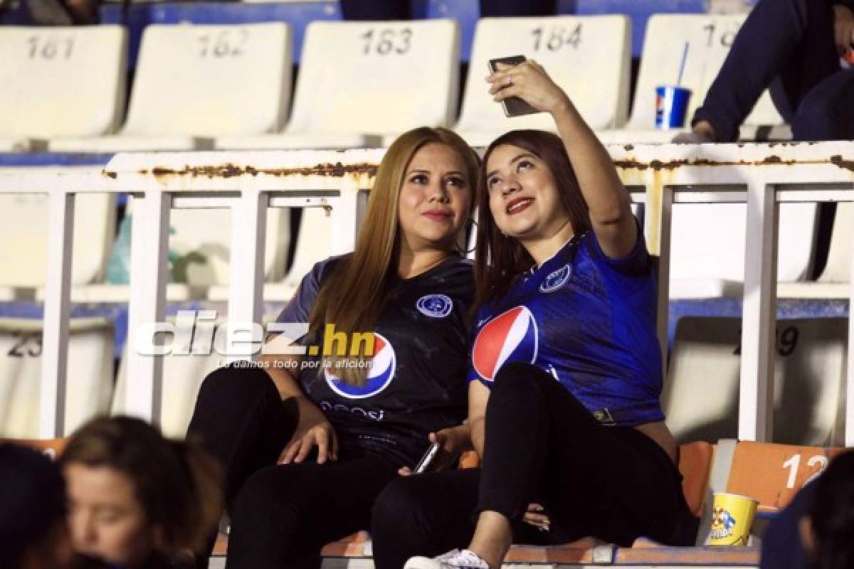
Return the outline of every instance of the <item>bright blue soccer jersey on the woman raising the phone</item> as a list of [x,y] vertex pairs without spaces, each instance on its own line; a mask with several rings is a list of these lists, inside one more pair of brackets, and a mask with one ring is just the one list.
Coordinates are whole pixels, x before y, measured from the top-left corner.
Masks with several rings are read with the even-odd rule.
[[611,259],[588,231],[481,307],[468,379],[490,386],[504,363],[534,363],[600,421],[661,421],[656,293],[642,234]]

